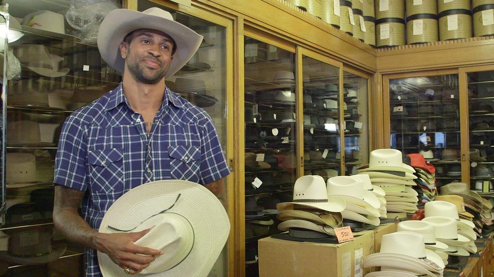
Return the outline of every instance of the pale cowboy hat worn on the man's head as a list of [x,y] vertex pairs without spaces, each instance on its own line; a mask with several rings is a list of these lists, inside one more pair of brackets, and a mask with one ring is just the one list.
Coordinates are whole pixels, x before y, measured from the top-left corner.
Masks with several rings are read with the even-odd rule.
[[174,21],[171,13],[160,8],[152,7],[142,12],[114,9],[103,19],[98,32],[101,57],[112,68],[124,72],[125,60],[120,55],[119,46],[128,33],[138,29],[162,31],[175,41],[175,54],[165,78],[180,70],[196,53],[203,40],[203,36]]

